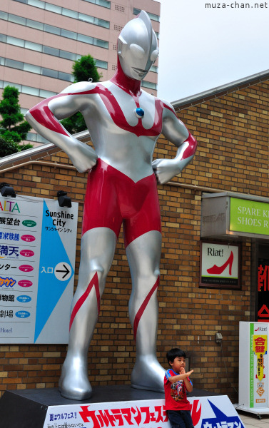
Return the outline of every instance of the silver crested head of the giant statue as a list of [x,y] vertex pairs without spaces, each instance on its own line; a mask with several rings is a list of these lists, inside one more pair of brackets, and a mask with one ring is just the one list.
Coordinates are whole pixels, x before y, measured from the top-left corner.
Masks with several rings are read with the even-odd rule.
[[138,81],[158,57],[157,37],[145,11],[129,21],[118,36],[118,58],[123,73]]

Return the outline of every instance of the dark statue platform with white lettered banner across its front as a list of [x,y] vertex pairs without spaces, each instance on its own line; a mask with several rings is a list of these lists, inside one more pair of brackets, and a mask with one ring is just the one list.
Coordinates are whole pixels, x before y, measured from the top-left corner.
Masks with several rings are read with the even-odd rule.
[[[193,389],[188,399],[196,428],[223,421],[243,427],[227,395]],[[6,391],[0,428],[170,428],[164,404],[164,394],[130,385],[93,387],[93,397],[83,401],[61,397],[56,388]]]

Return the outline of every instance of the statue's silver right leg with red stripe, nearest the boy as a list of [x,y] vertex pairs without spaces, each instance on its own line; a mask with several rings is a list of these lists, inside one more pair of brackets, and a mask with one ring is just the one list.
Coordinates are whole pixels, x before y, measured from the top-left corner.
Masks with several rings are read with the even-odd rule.
[[158,230],[144,233],[127,246],[126,254],[133,282],[129,315],[136,340],[131,384],[138,389],[163,392],[165,370],[156,358],[161,233]]

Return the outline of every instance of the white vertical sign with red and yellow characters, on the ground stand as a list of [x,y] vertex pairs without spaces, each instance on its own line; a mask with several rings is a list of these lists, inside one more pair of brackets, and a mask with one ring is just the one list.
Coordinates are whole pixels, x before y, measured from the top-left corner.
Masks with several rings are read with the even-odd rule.
[[268,407],[268,326],[250,323],[250,408]]

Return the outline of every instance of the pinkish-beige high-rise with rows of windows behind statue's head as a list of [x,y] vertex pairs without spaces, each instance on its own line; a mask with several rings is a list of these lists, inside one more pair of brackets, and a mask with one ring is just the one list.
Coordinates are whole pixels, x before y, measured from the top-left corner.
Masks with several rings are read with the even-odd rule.
[[[101,80],[111,78],[118,34],[141,9],[157,36],[160,27],[157,0],[1,0],[0,9],[0,96],[16,86],[22,113],[71,84],[73,61],[82,55],[93,56]],[[157,81],[158,61],[142,86],[156,94]],[[34,131],[29,139],[44,143]]]

